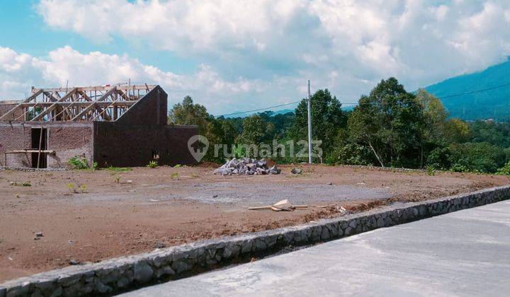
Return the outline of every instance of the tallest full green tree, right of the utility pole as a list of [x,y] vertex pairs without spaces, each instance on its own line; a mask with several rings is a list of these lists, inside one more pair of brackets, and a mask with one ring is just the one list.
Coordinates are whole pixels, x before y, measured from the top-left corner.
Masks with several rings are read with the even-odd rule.
[[381,166],[418,167],[424,139],[424,107],[396,78],[363,95],[348,120],[353,143],[365,146]]

